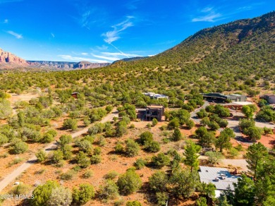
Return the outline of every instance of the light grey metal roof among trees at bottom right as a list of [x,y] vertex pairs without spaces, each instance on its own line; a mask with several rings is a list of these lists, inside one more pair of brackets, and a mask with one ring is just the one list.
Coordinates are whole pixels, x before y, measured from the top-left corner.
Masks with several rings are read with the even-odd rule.
[[239,176],[233,176],[228,169],[221,167],[200,166],[200,181],[202,183],[213,183],[217,190],[232,190],[233,183],[238,183]]

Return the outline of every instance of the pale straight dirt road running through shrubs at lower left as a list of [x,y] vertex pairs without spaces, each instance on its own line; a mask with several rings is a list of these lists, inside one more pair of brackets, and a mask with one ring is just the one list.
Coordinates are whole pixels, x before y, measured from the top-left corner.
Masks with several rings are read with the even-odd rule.
[[[105,116],[104,119],[102,119],[102,121],[100,121],[100,122],[105,123],[106,121],[111,121],[114,116],[118,116],[118,111],[116,110],[116,108],[114,108],[113,111],[111,111],[111,114],[108,114],[107,116]],[[73,138],[75,138],[75,137],[78,137],[82,134],[87,133],[87,131],[88,131],[88,128],[84,128],[81,131],[78,131],[76,133],[72,133],[71,135],[72,135]],[[44,152],[49,153],[51,150],[56,149],[56,147],[57,147],[56,143],[51,143],[51,144],[47,145],[47,147],[44,147]],[[15,170],[13,170],[11,172],[11,174],[8,174],[8,176],[4,177],[0,181],[0,192],[4,188],[6,188],[6,186],[8,186],[8,184],[13,182],[18,176],[20,176],[20,174],[22,174],[23,171],[25,171],[30,166],[32,166],[32,164],[35,164],[36,161],[37,161],[37,158],[35,156],[33,156],[30,159],[28,159],[27,162],[21,164]]]

